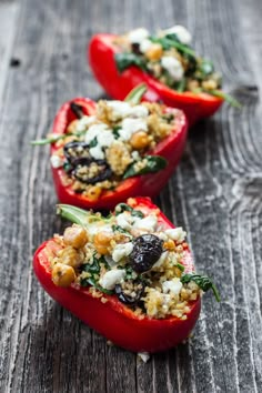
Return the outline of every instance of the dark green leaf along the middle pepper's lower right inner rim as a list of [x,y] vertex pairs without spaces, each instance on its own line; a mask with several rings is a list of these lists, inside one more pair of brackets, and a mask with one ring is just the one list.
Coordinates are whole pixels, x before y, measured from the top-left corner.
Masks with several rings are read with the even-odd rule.
[[135,169],[137,162],[129,165],[128,170],[124,172],[123,179],[159,172],[168,165],[168,161],[161,155],[147,155],[143,160],[145,160],[145,164],[140,170]]

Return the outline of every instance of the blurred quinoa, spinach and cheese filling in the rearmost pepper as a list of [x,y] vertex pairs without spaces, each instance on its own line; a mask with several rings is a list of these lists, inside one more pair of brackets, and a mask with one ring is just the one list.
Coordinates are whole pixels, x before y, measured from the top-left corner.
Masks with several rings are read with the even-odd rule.
[[[132,30],[119,36],[120,48],[115,61],[120,72],[131,66],[139,67],[163,84],[179,92],[206,92],[213,95],[222,85],[221,75],[210,60],[195,54],[191,34],[182,26],[174,26],[151,36],[147,29]],[[226,99],[226,97],[223,97]]]

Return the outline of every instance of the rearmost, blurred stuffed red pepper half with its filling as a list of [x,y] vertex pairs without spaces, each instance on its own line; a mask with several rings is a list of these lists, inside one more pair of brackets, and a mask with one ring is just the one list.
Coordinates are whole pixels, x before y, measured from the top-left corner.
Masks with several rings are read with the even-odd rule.
[[192,124],[213,114],[223,100],[239,103],[221,90],[213,63],[190,44],[191,34],[182,26],[155,34],[140,28],[123,36],[94,36],[88,57],[95,78],[114,99],[143,82],[145,100],[182,109]]

